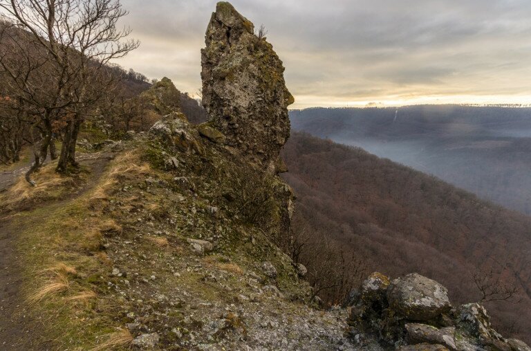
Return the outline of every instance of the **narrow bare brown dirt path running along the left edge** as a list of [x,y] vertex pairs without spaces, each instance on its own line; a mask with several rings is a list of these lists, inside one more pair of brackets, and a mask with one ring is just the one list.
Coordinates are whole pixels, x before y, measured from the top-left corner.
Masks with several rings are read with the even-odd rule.
[[[80,163],[91,170],[87,183],[79,191],[73,193],[71,197],[55,201],[54,203],[39,204],[39,206],[50,206],[50,212],[55,208],[66,206],[71,201],[80,197],[88,190],[91,190],[103,174],[106,165],[113,159],[113,154],[87,154],[80,157]],[[24,168],[15,170],[8,177],[1,177],[4,184],[14,183],[20,174],[24,173]],[[1,189],[2,183],[0,183]],[[30,216],[30,211],[23,213],[23,216]],[[0,350],[51,350],[51,341],[41,335],[39,321],[30,318],[28,307],[24,303],[21,294],[23,259],[17,251],[18,233],[12,221],[12,215],[0,217]],[[17,220],[19,223],[24,221]],[[38,219],[31,218],[29,223],[36,223]]]

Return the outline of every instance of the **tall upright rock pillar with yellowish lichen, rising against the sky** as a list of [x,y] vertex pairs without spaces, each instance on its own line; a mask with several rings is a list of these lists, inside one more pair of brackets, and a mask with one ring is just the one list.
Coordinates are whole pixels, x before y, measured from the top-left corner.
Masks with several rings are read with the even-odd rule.
[[203,106],[227,145],[272,173],[290,135],[288,105],[294,102],[284,67],[272,45],[230,3],[212,14],[201,51]]

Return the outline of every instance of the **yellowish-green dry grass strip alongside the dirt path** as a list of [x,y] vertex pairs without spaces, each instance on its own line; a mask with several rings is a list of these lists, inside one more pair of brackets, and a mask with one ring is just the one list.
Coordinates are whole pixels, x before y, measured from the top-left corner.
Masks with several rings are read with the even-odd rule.
[[[24,257],[27,301],[35,316],[41,316],[46,339],[53,340],[58,350],[119,349],[132,341],[131,334],[113,320],[120,301],[105,298],[111,267],[102,238],[121,228],[97,210],[116,174],[132,164],[131,155],[118,158],[95,188],[66,202],[50,202],[59,193],[64,195],[65,184],[73,181],[55,174],[53,165],[38,174],[37,188],[28,190],[20,183],[8,194],[33,203],[39,199],[40,206],[15,215],[12,225],[21,228],[17,249]],[[43,195],[48,202],[42,201]]]

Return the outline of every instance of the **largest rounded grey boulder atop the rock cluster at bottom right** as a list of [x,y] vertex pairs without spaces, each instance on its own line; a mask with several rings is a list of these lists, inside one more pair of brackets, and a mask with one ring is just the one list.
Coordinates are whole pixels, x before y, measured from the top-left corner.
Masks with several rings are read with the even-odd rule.
[[429,321],[451,309],[443,285],[418,273],[391,282],[387,289],[389,308],[398,316],[413,321]]

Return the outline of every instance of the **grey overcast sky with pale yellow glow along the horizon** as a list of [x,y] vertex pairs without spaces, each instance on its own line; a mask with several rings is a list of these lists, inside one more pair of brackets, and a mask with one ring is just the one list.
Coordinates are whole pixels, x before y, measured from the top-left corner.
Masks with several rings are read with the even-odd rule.
[[[531,103],[530,0],[234,0],[286,66],[292,108]],[[122,0],[141,42],[118,63],[201,87],[210,0]]]

